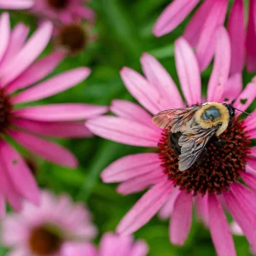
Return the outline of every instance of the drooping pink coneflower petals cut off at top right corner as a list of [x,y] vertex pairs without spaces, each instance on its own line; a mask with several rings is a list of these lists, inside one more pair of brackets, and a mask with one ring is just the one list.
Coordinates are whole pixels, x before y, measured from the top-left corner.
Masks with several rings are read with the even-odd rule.
[[[199,0],[174,0],[160,15],[154,25],[154,35],[160,37],[172,32],[195,9]],[[218,26],[224,24],[227,15],[228,0],[206,0],[195,12],[184,31],[186,38],[193,47],[196,47],[196,56],[201,70],[204,70],[214,54],[215,32]],[[249,19],[247,22],[243,0],[235,0],[228,20],[232,61],[230,73],[241,73],[245,55],[247,56],[247,70],[256,71],[256,15],[255,0],[249,3]]]

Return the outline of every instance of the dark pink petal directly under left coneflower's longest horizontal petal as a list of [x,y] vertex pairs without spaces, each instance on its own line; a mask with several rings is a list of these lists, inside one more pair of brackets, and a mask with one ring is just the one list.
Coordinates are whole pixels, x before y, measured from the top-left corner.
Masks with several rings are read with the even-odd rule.
[[48,137],[91,137],[92,133],[79,122],[42,122],[27,119],[13,119],[12,124],[26,131]]

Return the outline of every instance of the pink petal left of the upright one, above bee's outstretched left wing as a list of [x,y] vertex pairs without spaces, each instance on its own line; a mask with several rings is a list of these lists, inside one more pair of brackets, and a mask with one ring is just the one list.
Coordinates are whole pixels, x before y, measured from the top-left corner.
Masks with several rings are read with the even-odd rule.
[[153,84],[160,95],[166,98],[166,109],[183,108],[183,100],[177,90],[177,85],[173,82],[172,77],[166,72],[166,69],[152,55],[144,53],[141,58],[143,73],[146,78]]

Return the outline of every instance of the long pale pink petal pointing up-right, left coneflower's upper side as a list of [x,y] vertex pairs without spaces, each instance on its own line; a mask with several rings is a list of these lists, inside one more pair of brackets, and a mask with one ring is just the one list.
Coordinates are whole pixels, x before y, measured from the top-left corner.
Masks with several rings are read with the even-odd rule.
[[9,62],[9,65],[1,70],[0,74],[3,85],[13,81],[35,61],[48,44],[52,28],[51,23],[48,21],[44,22],[44,24],[38,28],[38,31],[33,33],[24,47],[20,49],[19,54],[15,56],[14,60]]

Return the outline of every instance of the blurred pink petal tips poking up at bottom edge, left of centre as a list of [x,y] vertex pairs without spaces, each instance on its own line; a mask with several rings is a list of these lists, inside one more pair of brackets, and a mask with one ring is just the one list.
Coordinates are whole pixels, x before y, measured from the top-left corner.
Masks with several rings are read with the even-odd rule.
[[132,236],[117,236],[106,233],[97,250],[91,243],[69,243],[62,250],[62,256],[146,256],[146,242],[133,241]]

